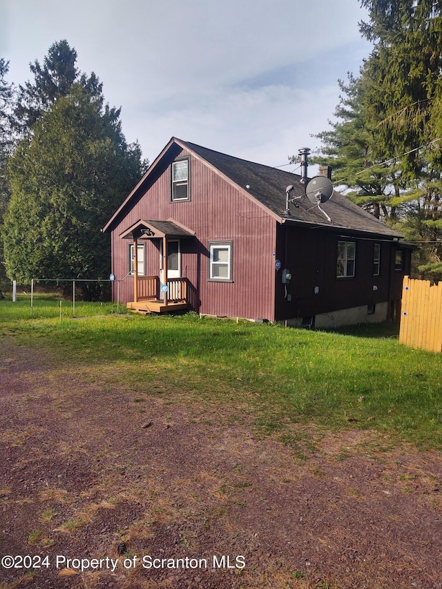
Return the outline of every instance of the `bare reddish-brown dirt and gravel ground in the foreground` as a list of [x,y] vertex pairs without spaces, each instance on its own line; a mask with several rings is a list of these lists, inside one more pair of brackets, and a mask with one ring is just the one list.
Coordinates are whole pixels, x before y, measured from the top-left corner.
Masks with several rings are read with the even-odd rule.
[[442,587],[439,453],[108,376],[1,342],[0,588]]

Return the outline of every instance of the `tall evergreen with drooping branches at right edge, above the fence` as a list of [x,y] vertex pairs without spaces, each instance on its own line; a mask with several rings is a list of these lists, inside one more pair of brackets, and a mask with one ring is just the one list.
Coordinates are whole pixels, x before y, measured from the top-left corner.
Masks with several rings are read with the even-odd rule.
[[[394,202],[406,207],[404,229],[423,242],[420,270],[440,279],[442,261],[441,2],[361,0],[361,32],[374,49],[363,67],[365,113],[375,157],[403,154]],[[425,146],[420,149],[420,146]],[[427,245],[425,245],[425,243]]]

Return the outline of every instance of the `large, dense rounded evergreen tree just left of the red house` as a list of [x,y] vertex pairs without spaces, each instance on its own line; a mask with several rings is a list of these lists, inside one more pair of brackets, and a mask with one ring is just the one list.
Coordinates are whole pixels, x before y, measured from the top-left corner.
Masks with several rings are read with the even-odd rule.
[[[107,278],[110,243],[100,231],[142,173],[119,110],[81,83],[39,117],[10,160],[4,220],[9,278]],[[86,284],[86,283],[84,283]],[[86,284],[88,298],[99,295]]]

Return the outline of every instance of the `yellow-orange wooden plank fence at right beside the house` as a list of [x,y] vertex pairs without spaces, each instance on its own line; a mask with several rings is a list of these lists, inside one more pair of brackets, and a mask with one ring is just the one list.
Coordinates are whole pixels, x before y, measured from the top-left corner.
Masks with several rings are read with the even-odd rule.
[[442,351],[442,282],[404,276],[399,343]]

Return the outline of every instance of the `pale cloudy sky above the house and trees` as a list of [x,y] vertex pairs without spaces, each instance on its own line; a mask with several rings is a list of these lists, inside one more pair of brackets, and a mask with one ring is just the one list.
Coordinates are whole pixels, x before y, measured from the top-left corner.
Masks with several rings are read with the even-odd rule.
[[286,164],[318,146],[370,50],[358,0],[0,0],[0,15],[8,81],[67,39],[150,161],[175,136]]

